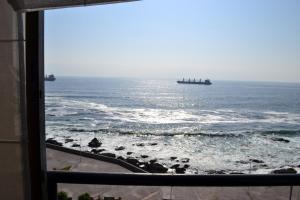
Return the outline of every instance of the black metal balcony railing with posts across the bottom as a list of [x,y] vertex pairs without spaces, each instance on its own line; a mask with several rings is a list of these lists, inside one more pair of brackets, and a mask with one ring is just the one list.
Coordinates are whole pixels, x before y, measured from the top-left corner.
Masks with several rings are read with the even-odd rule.
[[55,200],[57,184],[94,184],[124,186],[188,186],[188,187],[244,187],[244,186],[300,186],[300,174],[280,175],[171,175],[48,172],[48,200]]

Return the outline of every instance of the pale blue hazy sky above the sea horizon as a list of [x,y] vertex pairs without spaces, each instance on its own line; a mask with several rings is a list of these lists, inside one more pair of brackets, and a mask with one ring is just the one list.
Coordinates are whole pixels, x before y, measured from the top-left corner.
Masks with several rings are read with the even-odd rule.
[[47,11],[64,76],[300,82],[300,0],[143,0]]

